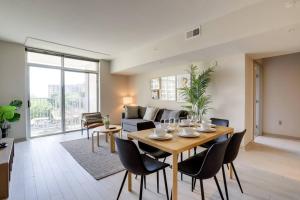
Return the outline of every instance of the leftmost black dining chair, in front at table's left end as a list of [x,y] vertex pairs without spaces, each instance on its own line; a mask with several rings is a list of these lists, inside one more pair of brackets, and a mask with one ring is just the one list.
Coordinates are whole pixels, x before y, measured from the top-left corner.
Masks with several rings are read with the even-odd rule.
[[120,160],[126,169],[125,176],[123,178],[117,200],[120,198],[128,172],[141,176],[140,195],[139,195],[139,200],[141,200],[143,196],[143,181],[145,177],[149,174],[158,172],[160,170],[163,170],[166,195],[167,195],[167,200],[169,200],[169,192],[168,192],[168,184],[167,184],[165,168],[169,167],[170,165],[155,160],[149,157],[148,155],[140,154],[137,146],[133,141],[124,140],[116,137],[116,143],[118,147],[118,154]]

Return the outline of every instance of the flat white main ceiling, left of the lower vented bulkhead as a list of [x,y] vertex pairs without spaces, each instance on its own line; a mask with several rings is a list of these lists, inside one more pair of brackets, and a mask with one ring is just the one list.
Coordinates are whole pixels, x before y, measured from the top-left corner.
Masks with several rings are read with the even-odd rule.
[[114,58],[260,1],[1,0],[0,40],[37,38],[44,48],[50,41]]

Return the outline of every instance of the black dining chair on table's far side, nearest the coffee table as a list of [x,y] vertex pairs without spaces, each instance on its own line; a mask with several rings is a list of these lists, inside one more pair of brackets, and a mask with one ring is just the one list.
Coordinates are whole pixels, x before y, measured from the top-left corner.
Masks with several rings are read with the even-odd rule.
[[[155,124],[152,121],[147,121],[147,122],[137,124],[138,131],[152,129],[152,128],[155,128]],[[142,143],[140,141],[138,141],[138,145],[139,145],[140,150],[142,150],[145,154],[152,156],[156,160],[163,158],[163,162],[165,162],[166,158],[171,155],[168,152],[162,151],[160,149],[157,149],[155,147],[152,147],[152,146]],[[156,176],[157,176],[156,177],[157,192],[159,193],[159,172],[158,171],[156,173]],[[146,181],[145,181],[145,187],[146,187]]]

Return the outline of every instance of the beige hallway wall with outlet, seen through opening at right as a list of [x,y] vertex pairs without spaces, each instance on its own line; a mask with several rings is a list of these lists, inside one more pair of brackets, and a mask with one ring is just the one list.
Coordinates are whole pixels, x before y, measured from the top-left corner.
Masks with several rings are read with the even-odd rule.
[[263,60],[263,133],[300,138],[299,86],[300,53]]

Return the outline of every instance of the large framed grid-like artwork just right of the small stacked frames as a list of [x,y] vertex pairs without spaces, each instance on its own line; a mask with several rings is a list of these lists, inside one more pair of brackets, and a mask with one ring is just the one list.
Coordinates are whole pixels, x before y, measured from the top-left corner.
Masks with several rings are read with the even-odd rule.
[[176,100],[175,76],[161,77],[161,100]]

